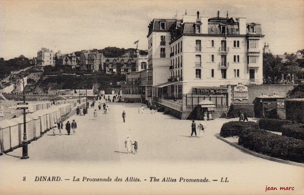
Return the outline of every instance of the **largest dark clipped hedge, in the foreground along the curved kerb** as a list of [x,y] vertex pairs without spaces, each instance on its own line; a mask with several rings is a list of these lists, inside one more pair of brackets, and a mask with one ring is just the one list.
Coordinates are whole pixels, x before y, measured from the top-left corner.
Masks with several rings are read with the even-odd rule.
[[255,152],[275,158],[304,162],[304,141],[273,134],[265,130],[243,131],[239,137],[239,145]]

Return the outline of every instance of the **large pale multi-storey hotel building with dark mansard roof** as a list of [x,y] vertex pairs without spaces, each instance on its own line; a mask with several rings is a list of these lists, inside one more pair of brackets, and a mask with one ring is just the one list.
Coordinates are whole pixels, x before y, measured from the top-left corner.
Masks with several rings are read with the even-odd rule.
[[263,84],[261,25],[246,18],[153,19],[147,35],[153,96],[179,98],[237,84]]

